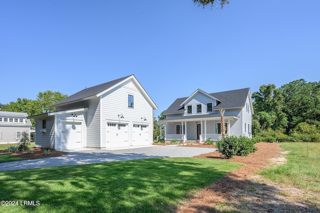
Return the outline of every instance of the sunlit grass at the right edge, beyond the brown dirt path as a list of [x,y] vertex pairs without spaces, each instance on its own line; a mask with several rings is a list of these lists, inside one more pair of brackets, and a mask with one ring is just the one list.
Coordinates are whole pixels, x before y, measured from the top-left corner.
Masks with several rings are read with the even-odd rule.
[[261,174],[274,182],[320,192],[320,143],[280,143],[280,147],[289,151],[287,163]]

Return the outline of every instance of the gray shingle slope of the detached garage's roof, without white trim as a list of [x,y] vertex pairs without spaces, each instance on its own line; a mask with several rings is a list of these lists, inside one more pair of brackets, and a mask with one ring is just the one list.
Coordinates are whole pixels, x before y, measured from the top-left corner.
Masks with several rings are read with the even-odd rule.
[[106,82],[106,83],[103,83],[103,84],[99,84],[99,85],[96,85],[96,86],[92,86],[92,87],[89,87],[89,88],[85,88],[77,93],[74,93],[73,95],[70,95],[54,104],[52,104],[50,107],[54,107],[54,106],[57,106],[57,105],[60,105],[60,104],[65,104],[65,103],[68,103],[68,102],[72,102],[72,101],[76,101],[76,100],[80,100],[80,99],[83,99],[83,98],[87,98],[87,97],[91,97],[91,96],[94,96],[94,95],[97,95],[99,94],[100,92],[103,92],[104,90],[110,88],[111,86],[123,81],[124,79],[130,77],[131,75],[128,75],[128,76],[125,76],[125,77],[122,77],[122,78],[119,78],[119,79],[116,79],[116,80],[113,80],[113,81],[109,81],[109,82]]

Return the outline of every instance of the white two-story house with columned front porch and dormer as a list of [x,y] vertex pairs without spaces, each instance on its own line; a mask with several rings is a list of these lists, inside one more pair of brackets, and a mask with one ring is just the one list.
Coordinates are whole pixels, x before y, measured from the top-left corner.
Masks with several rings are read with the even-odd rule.
[[[251,138],[253,107],[250,88],[206,93],[197,89],[189,97],[177,98],[165,111],[165,140],[198,141],[221,138],[219,109],[225,109],[226,135]],[[161,131],[160,131],[161,132]]]

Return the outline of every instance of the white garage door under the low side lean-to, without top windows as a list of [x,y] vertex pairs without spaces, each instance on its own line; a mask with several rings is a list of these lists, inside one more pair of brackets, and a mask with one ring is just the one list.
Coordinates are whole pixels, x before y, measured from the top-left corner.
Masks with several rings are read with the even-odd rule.
[[81,123],[61,123],[61,150],[81,149]]

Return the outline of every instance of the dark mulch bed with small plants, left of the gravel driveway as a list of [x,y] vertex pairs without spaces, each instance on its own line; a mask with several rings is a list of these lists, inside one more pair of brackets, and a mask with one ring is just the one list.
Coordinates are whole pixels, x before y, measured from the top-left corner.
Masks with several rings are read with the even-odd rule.
[[[61,151],[57,151],[54,149],[50,149],[50,154],[49,155],[44,155],[43,154],[43,149],[42,148],[29,148],[30,150],[32,150],[32,153],[28,154],[26,151],[19,151],[18,153],[7,153],[4,150],[0,150],[0,155],[2,154],[10,154],[13,157],[16,158],[23,158],[23,159],[41,159],[41,158],[51,158],[51,157],[58,157],[58,156],[62,156],[62,155],[66,155],[68,154],[67,152],[61,152]],[[46,149],[47,150],[47,149]]]

